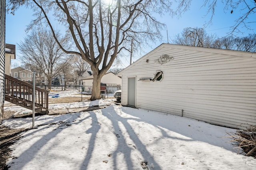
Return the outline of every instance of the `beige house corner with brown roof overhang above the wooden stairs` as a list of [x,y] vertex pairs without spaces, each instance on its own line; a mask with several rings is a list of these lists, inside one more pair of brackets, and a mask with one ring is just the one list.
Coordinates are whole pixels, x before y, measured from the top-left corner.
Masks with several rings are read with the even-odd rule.
[[15,45],[5,44],[4,74],[11,75],[11,59],[15,59]]

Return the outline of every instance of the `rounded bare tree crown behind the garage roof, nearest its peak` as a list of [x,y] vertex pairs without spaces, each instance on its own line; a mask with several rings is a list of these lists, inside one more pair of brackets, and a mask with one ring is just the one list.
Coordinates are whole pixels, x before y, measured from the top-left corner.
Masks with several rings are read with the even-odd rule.
[[174,39],[174,43],[180,45],[192,45],[197,47],[211,47],[214,36],[208,35],[203,28],[184,28],[181,34]]

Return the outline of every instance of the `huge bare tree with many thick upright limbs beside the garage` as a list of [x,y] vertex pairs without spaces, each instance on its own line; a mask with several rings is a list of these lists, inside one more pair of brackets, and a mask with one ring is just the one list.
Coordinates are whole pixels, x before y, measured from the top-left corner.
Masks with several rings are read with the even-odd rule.
[[[110,69],[118,53],[134,49],[156,38],[164,28],[154,14],[176,14],[185,11],[190,0],[179,0],[178,10],[170,8],[172,0],[10,0],[8,9],[14,12],[20,5],[30,6],[37,19],[33,24],[47,22],[60,48],[68,54],[79,55],[93,71],[91,100],[100,98],[100,81]],[[50,16],[53,14],[53,16]],[[73,50],[62,46],[54,32],[51,17],[67,28],[67,38]]]

